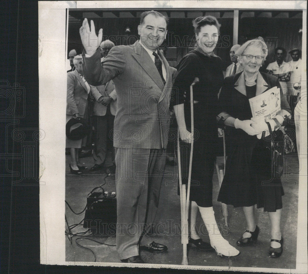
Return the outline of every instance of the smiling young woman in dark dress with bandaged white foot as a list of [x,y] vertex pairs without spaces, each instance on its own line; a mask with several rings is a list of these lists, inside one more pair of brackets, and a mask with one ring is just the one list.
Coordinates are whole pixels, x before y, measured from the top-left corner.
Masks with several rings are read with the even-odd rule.
[[[181,177],[188,181],[190,145],[194,138],[190,190],[191,216],[189,243],[198,249],[213,251],[219,256],[237,256],[239,251],[219,233],[213,211],[213,167],[217,147],[216,108],[217,95],[223,82],[221,58],[213,54],[217,44],[220,25],[213,16],[198,17],[193,21],[197,48],[189,52],[177,66],[178,75],[173,85],[174,112],[181,139]],[[195,79],[193,99],[189,86]],[[184,95],[186,93],[186,95]],[[193,100],[193,109],[190,109]],[[194,117],[194,132],[191,133],[191,113]],[[198,136],[197,136],[198,135]],[[189,149],[187,149],[187,147]],[[209,232],[210,244],[201,240],[196,231],[198,209]]]

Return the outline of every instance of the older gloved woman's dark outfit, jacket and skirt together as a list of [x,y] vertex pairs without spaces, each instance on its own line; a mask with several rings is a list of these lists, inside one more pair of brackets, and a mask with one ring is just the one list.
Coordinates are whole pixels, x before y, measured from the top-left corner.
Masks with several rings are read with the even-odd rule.
[[[279,83],[277,85],[280,87]],[[248,99],[255,94],[256,85],[246,86],[246,97],[233,88],[233,82],[224,83],[218,113],[224,111],[239,120],[250,120],[252,113]],[[290,112],[288,107],[284,109]],[[229,142],[232,149],[217,201],[235,207],[257,204],[257,208],[264,207],[264,211],[270,212],[282,208],[284,192],[281,180],[272,176],[270,141],[230,128]]]

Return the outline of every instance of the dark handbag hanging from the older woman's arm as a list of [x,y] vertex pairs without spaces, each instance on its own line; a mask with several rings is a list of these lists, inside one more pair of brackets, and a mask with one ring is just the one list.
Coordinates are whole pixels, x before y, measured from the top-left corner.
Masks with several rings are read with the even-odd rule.
[[272,174],[276,178],[280,178],[283,173],[284,159],[286,154],[295,151],[294,142],[289,135],[286,134],[284,128],[276,118],[273,118],[279,130],[272,131],[270,123],[268,125],[271,136],[271,151],[272,151]]

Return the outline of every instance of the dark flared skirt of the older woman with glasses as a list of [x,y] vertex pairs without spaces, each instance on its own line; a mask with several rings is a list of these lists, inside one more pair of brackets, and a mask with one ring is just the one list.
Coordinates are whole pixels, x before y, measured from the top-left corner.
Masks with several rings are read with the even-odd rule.
[[217,201],[234,207],[257,205],[269,212],[282,208],[284,192],[281,180],[272,175],[270,147],[269,141],[247,135],[234,146]]

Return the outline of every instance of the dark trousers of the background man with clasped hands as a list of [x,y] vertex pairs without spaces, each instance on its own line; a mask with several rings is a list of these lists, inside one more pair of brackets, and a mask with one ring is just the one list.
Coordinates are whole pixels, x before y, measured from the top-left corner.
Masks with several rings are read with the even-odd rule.
[[[93,123],[95,128],[95,148],[93,150],[94,163],[110,167],[114,161],[114,149],[110,133],[112,134],[115,116],[106,113],[105,116],[93,116]],[[111,161],[106,162],[107,153],[111,152]]]

